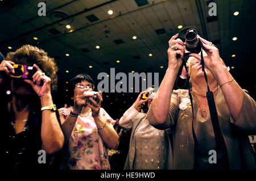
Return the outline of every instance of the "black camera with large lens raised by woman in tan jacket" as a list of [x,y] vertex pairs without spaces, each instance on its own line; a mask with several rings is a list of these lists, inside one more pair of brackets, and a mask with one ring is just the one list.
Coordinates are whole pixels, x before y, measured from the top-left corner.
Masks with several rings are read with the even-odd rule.
[[197,32],[194,28],[190,28],[187,33],[185,33],[185,46],[188,52],[190,53],[199,53],[201,52],[201,42],[197,38]]

